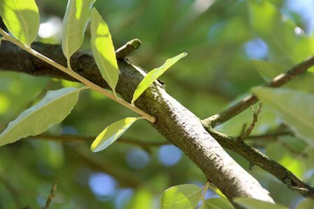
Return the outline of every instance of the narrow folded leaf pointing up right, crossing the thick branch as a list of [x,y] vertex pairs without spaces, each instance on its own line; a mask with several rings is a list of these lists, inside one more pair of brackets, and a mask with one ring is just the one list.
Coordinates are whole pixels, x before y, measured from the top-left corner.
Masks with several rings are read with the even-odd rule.
[[155,68],[154,70],[151,70],[151,72],[147,73],[144,79],[142,79],[142,82],[140,82],[140,84],[137,86],[131,103],[134,104],[135,100],[140,97],[140,95],[149,87],[150,84],[152,84],[156,79],[158,79],[158,77],[160,77],[160,75],[163,75],[163,73],[168,70],[168,68],[177,63],[177,61],[180,59],[184,58],[186,55],[187,53],[184,52],[174,56],[171,59],[167,59],[161,67]]

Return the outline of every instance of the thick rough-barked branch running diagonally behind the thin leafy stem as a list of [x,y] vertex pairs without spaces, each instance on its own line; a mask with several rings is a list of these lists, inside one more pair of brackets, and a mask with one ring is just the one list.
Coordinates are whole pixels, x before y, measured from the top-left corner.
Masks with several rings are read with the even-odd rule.
[[[32,47],[57,63],[66,65],[66,59],[59,45],[35,43]],[[76,53],[71,59],[71,66],[91,82],[107,87],[91,54]],[[0,70],[73,80],[6,41],[0,45]],[[120,77],[116,90],[130,102],[133,91],[142,80],[144,72],[124,60],[119,61],[119,70]],[[163,86],[156,82],[140,96],[135,105],[156,117],[156,122],[152,124],[156,130],[183,150],[190,160],[202,169],[207,179],[214,183],[228,199],[248,196],[273,202],[267,190],[234,162],[218,142],[204,130],[200,119],[168,95]]]

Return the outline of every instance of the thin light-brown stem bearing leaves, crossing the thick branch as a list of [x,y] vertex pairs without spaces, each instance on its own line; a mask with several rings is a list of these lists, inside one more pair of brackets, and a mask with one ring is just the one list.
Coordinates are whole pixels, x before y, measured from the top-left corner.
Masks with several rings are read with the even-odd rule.
[[31,47],[22,44],[22,42],[20,42],[19,40],[11,37],[8,33],[6,33],[6,31],[3,31],[3,29],[0,29],[0,34],[4,38],[6,38],[6,40],[8,40],[8,41],[12,42],[14,45],[17,45],[18,47],[24,49],[25,51],[29,52],[30,54],[33,54],[33,56],[36,56],[38,59],[41,59],[42,61],[45,61],[46,63],[49,63],[50,65],[54,66],[55,68],[58,68],[62,72],[65,72],[66,74],[70,75],[71,77],[73,77],[73,78],[77,79],[78,81],[82,82],[82,84],[85,84],[89,88],[92,88],[92,89],[102,93],[103,95],[107,96],[108,98],[114,100],[115,102],[118,102],[119,104],[122,104],[124,107],[126,107],[126,108],[128,108],[128,109],[130,109],[132,111],[135,111],[137,114],[140,114],[140,116],[145,118],[147,121],[149,121],[151,123],[155,122],[155,118],[153,116],[150,116],[149,114],[145,113],[144,111],[142,111],[141,109],[135,107],[134,105],[132,105],[132,104],[130,104],[130,103],[124,101],[124,100],[121,100],[117,96],[115,96],[112,93],[109,93],[108,91],[106,91],[104,88],[101,88],[100,86],[94,84],[93,82],[90,82],[88,79],[85,79],[84,77],[78,75],[73,70],[70,70],[69,68],[63,67],[63,65],[60,65],[59,63],[56,63],[52,59],[47,58],[47,56],[44,56],[43,54],[40,54],[39,52],[36,52],[35,50],[31,49]]

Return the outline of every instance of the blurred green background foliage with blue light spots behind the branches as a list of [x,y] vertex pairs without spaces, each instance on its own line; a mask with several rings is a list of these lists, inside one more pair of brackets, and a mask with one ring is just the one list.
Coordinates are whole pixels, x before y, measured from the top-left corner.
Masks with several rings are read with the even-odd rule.
[[[249,6],[241,0],[98,0],[95,6],[110,26],[116,48],[133,38],[142,40],[129,59],[147,71],[188,52],[161,80],[170,95],[199,118],[207,118],[264,82],[265,75],[255,69],[252,59],[272,61],[285,71],[314,54],[313,0],[268,1],[277,10],[261,2]],[[37,1],[41,22],[38,41],[61,43],[66,3]],[[83,50],[89,50],[89,40],[87,29]],[[62,86],[80,84],[0,72],[0,130],[48,89]],[[311,80],[308,92],[313,93],[313,88]],[[56,178],[59,183],[51,208],[158,208],[158,197],[168,187],[204,185],[200,169],[144,121],[135,123],[122,137],[124,141],[91,153],[91,141],[82,137],[94,137],[110,123],[133,115],[96,92],[84,91],[72,114],[46,133],[76,134],[75,141],[37,137],[1,147],[0,208],[43,207]],[[248,109],[218,129],[237,136],[251,118]],[[265,106],[253,135],[282,126]],[[249,143],[314,185],[313,148],[304,141],[285,136]],[[244,158],[230,155],[276,202],[294,208],[302,201],[297,192],[269,173],[258,167],[249,169]],[[212,196],[217,195],[209,191],[207,198]]]

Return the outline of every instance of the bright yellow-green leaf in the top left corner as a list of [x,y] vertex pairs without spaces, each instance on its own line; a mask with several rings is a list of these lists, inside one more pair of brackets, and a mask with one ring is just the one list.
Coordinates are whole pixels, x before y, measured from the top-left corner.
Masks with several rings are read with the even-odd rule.
[[39,13],[34,0],[1,0],[0,15],[15,38],[31,45],[39,29]]

